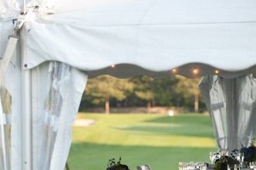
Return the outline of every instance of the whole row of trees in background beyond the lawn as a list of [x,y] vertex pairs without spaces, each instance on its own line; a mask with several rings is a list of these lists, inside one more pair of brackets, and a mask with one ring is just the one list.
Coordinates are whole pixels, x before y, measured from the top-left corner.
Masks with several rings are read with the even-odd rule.
[[108,114],[110,106],[176,106],[202,112],[205,105],[198,84],[199,79],[183,76],[161,79],[147,76],[127,79],[98,76],[88,80],[80,108],[104,106]]

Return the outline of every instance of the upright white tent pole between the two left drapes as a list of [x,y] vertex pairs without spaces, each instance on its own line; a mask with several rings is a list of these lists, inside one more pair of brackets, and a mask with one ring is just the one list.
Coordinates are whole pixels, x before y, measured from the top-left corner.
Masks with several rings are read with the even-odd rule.
[[21,112],[22,112],[22,147],[23,170],[32,170],[32,99],[31,71],[26,68],[25,38],[21,29]]

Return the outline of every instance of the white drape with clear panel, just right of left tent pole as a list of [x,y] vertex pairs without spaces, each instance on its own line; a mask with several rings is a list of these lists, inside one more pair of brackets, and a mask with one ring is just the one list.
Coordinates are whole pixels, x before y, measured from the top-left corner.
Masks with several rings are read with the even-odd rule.
[[33,169],[64,169],[86,81],[86,74],[59,62],[32,70]]

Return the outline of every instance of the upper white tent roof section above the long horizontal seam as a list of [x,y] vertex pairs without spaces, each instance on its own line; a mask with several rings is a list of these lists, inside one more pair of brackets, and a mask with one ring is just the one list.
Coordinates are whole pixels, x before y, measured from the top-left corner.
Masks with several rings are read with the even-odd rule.
[[256,21],[253,0],[51,0],[46,5],[55,15],[44,19],[87,26]]

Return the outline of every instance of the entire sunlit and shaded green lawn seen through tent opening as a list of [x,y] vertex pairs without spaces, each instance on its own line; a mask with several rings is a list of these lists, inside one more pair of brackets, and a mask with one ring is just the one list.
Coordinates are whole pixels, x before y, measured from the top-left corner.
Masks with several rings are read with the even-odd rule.
[[149,164],[153,170],[176,170],[179,161],[208,162],[215,150],[210,117],[182,114],[79,114],[95,119],[89,127],[73,128],[71,170],[105,170],[109,158],[122,157],[131,170]]

